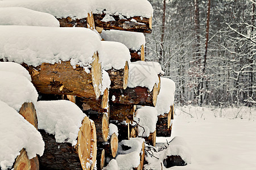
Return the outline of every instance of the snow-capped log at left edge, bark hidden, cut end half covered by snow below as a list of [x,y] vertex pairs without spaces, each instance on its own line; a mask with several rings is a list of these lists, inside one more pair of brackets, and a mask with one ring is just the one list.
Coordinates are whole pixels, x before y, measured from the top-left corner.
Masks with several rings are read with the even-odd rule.
[[18,63],[0,62],[0,100],[14,108],[37,129],[35,103],[38,92],[30,80],[28,71]]

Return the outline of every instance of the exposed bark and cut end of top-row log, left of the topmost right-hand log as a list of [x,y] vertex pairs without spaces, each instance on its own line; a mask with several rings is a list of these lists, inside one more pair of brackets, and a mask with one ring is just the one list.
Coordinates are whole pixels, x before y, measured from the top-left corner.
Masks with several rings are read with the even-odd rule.
[[72,19],[69,16],[67,18],[57,18],[60,22],[60,27],[85,27],[93,29],[95,28],[93,15],[88,14],[87,18]]

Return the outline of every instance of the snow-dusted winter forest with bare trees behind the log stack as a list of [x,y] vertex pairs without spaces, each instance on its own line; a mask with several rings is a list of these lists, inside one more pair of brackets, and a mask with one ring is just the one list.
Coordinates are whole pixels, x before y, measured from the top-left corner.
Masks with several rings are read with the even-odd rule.
[[255,104],[254,0],[150,0],[146,56],[176,83],[180,105]]

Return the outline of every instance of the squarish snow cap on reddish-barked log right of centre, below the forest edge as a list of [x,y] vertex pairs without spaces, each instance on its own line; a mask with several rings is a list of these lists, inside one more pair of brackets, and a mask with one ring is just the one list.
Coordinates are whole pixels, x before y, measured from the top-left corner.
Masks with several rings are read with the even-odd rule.
[[137,86],[147,87],[152,91],[155,84],[159,83],[158,73],[154,67],[146,62],[133,62],[129,65],[129,79],[127,86],[134,88]]

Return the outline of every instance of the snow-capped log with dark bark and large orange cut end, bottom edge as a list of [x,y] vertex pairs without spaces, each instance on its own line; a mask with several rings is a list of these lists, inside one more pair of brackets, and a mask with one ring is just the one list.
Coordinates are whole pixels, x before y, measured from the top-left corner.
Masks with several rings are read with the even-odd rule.
[[46,142],[40,168],[93,168],[97,156],[94,122],[67,100],[38,101],[36,108],[38,128]]

